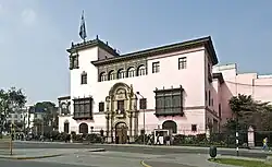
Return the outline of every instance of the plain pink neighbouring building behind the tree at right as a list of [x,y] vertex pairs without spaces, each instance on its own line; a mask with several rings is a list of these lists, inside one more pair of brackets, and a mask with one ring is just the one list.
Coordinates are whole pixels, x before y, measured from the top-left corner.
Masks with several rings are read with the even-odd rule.
[[[213,73],[224,77],[221,86],[214,88],[213,96],[220,93],[220,102],[214,104],[222,110],[221,124],[232,118],[228,100],[238,94],[251,95],[255,100],[272,102],[272,75],[258,75],[257,73],[238,73],[237,64],[222,64],[213,67]],[[213,82],[213,86],[215,83]],[[219,90],[219,91],[218,91]]]

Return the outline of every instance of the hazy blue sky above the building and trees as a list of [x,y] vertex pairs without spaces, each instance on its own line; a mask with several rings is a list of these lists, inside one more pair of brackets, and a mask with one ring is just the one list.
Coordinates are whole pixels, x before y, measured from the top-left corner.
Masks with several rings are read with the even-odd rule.
[[69,53],[85,11],[87,39],[121,53],[211,36],[221,64],[272,73],[271,0],[0,0],[0,88],[27,104],[70,94]]

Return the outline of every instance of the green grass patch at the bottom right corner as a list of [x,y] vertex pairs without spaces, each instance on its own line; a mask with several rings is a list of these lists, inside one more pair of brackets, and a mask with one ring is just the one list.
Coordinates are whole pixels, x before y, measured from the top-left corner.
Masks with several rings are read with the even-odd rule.
[[235,158],[215,158],[215,159],[210,158],[209,160],[219,164],[235,165],[243,167],[272,167],[272,165],[264,164],[264,162],[261,160],[245,160]]

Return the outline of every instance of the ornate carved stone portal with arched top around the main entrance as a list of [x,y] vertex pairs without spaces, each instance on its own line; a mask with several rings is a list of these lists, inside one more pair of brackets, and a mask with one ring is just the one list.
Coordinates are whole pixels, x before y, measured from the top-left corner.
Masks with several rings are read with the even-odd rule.
[[125,83],[114,84],[106,97],[106,104],[108,142],[134,142],[138,133],[138,112],[133,86]]

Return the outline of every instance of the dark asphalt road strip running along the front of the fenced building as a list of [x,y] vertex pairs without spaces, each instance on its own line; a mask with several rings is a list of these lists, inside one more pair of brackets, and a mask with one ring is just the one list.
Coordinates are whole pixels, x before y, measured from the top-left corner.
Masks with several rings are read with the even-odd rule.
[[[123,153],[143,153],[143,154],[208,154],[208,148],[169,148],[169,147],[143,147],[143,146],[122,146],[122,145],[86,145],[86,144],[59,144],[59,143],[24,143],[15,142],[15,148],[106,148],[112,152],[123,152]],[[233,150],[218,150],[218,154],[236,156],[236,151]],[[255,158],[267,158],[271,155],[268,152],[250,152],[250,151],[239,151],[239,156],[243,157],[255,157]]]

